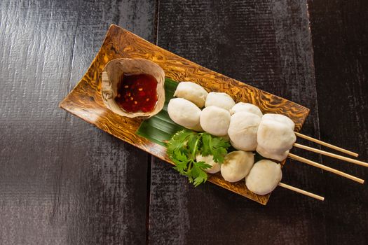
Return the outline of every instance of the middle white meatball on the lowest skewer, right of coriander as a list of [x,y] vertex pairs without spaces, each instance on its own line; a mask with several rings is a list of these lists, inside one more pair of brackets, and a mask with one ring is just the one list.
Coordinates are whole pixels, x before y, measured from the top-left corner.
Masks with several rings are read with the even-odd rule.
[[233,151],[225,156],[221,174],[225,181],[236,182],[244,179],[254,163],[254,154],[246,151]]

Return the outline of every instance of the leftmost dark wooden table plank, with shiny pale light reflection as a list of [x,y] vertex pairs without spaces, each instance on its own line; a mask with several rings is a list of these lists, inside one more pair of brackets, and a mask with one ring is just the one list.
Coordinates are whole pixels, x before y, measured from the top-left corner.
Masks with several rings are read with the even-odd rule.
[[0,1],[0,244],[144,244],[148,155],[58,108],[111,23],[154,1]]

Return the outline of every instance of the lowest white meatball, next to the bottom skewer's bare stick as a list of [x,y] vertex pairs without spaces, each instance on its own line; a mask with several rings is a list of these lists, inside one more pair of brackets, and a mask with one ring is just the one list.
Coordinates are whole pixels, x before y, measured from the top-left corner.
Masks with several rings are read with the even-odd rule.
[[281,178],[281,165],[270,160],[260,160],[250,169],[245,184],[252,193],[266,195],[278,186]]

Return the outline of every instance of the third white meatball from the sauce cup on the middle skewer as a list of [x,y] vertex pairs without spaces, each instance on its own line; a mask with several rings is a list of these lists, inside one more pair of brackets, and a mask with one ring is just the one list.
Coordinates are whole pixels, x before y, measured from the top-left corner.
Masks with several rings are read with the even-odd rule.
[[259,122],[261,118],[253,113],[239,111],[233,114],[228,130],[231,145],[238,150],[255,151]]

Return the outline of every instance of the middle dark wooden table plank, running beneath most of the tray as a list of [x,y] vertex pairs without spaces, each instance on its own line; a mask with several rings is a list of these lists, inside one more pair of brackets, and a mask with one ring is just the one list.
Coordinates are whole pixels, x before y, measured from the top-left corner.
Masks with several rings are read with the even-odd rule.
[[[318,136],[305,1],[160,1],[158,45],[303,104],[311,115],[302,131]],[[308,197],[277,189],[261,207],[210,184],[193,188],[159,160],[151,172],[152,244],[317,244],[316,235],[325,237],[321,203]],[[289,162],[284,174],[287,183],[324,189],[317,169]]]

